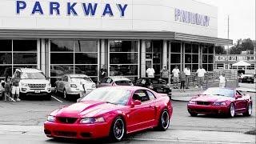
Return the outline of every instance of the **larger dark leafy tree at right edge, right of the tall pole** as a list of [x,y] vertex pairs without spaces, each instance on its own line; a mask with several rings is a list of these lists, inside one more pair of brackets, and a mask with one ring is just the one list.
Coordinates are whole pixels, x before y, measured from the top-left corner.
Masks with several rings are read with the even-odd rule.
[[250,38],[238,39],[230,48],[230,54],[241,54],[241,51],[254,50],[254,42]]

